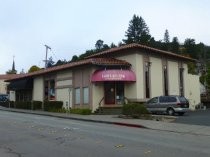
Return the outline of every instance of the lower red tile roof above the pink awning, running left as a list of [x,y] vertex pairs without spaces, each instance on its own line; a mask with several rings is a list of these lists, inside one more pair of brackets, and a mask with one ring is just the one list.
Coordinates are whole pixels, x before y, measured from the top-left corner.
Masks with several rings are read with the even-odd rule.
[[52,73],[52,72],[69,69],[69,68],[73,68],[73,67],[77,67],[77,66],[81,66],[81,65],[88,65],[88,64],[90,64],[90,65],[91,64],[92,65],[110,65],[110,66],[111,65],[131,66],[130,63],[128,63],[124,60],[119,60],[119,59],[115,59],[115,58],[89,58],[89,59],[84,59],[81,61],[72,62],[72,63],[60,65],[60,66],[42,69],[42,70],[35,71],[32,73],[27,73],[27,74],[24,74],[19,77],[15,77],[15,78],[8,78],[6,81],[9,82],[12,80],[18,80],[18,79],[27,78],[27,77],[39,76],[39,75],[43,75],[43,74],[47,74],[47,73]]

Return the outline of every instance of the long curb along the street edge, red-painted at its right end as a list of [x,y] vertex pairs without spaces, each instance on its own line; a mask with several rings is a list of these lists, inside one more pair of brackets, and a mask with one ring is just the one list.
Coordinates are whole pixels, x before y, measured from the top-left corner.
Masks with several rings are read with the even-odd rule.
[[2,108],[2,107],[0,107],[0,110],[8,111],[8,112],[16,112],[16,113],[34,114],[34,115],[40,115],[40,116],[62,118],[62,119],[71,119],[71,120],[78,120],[78,121],[85,121],[85,122],[94,122],[94,123],[103,123],[103,124],[112,124],[112,125],[120,125],[120,126],[127,126],[127,127],[149,129],[146,126],[143,126],[143,125],[140,125],[140,124],[124,123],[124,122],[117,122],[117,121],[86,119],[86,118],[79,118],[79,117],[71,117],[70,115],[68,115],[68,116],[66,116],[66,115],[55,115],[51,112],[44,112],[44,111],[42,111],[43,113],[38,113],[38,112],[32,111],[32,110],[8,109],[8,108]]

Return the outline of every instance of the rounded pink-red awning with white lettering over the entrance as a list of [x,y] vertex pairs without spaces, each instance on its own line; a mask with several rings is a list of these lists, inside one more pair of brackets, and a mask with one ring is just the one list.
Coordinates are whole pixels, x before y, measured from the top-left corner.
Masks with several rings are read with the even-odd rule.
[[91,82],[103,82],[103,81],[135,82],[136,75],[131,70],[120,70],[120,69],[96,70],[91,77]]

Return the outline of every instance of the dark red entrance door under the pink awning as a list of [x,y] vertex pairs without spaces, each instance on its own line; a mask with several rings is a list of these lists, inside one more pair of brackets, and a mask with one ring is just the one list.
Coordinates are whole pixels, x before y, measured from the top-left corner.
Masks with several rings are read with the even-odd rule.
[[115,83],[105,82],[104,83],[105,92],[105,104],[115,104]]

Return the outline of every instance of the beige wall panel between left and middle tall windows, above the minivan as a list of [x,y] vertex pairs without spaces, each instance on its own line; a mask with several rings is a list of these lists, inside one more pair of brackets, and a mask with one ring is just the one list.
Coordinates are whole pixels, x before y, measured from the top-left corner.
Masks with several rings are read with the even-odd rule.
[[162,59],[150,57],[151,64],[151,97],[163,95]]

